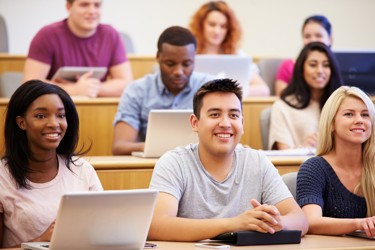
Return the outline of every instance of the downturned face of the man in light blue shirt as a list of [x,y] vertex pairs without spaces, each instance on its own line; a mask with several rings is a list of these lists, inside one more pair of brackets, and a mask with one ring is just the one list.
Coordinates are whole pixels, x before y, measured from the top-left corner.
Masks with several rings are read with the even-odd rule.
[[161,79],[166,88],[177,95],[189,82],[194,69],[195,46],[162,45],[157,54]]

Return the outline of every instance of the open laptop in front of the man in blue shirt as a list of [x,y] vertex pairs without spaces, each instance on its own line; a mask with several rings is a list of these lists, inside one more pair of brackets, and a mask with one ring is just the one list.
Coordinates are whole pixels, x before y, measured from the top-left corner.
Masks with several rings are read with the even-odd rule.
[[190,125],[191,109],[153,109],[149,113],[143,152],[133,156],[158,158],[178,146],[197,143],[198,136]]

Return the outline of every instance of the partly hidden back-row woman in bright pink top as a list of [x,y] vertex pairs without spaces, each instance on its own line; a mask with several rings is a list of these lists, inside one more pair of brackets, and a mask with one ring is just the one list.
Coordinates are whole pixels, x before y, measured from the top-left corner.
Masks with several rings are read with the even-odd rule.
[[[322,15],[313,15],[305,19],[302,25],[302,42],[304,45],[310,42],[322,42],[327,46],[332,44],[332,29],[328,18]],[[275,94],[281,92],[290,84],[293,75],[294,59],[288,59],[281,63],[276,74]]]

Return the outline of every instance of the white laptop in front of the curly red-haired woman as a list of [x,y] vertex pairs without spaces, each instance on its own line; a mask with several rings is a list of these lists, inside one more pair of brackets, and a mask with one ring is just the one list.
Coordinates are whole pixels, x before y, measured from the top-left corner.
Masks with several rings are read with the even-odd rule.
[[196,55],[194,70],[216,76],[237,80],[243,92],[247,93],[251,79],[250,56],[242,55]]

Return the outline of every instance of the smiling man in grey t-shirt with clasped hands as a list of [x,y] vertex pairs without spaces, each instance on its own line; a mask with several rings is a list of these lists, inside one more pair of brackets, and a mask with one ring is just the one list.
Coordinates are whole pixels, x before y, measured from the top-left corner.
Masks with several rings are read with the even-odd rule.
[[240,230],[307,232],[302,210],[270,160],[238,144],[241,102],[242,90],[230,79],[210,81],[197,91],[190,123],[199,144],[157,161],[150,188],[160,193],[149,239],[199,241]]

